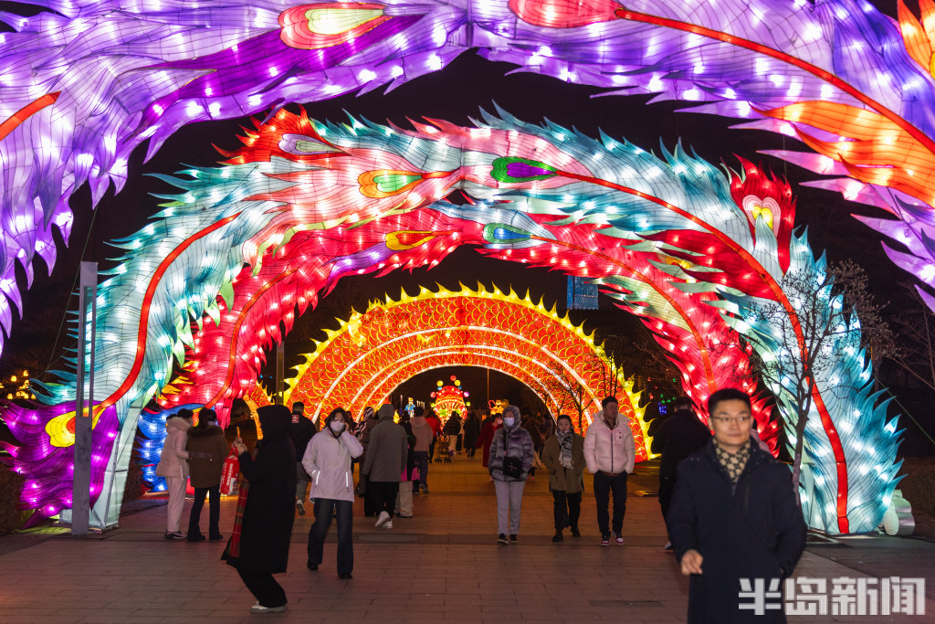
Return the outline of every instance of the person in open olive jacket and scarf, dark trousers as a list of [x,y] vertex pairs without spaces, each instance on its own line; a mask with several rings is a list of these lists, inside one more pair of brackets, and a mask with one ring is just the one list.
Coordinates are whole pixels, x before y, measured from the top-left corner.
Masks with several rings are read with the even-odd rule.
[[573,537],[581,537],[578,518],[582,513],[582,490],[584,475],[584,438],[574,432],[571,417],[558,417],[555,435],[542,447],[542,463],[549,472],[549,489],[552,490],[555,535],[553,542],[565,538],[562,531],[571,528]]

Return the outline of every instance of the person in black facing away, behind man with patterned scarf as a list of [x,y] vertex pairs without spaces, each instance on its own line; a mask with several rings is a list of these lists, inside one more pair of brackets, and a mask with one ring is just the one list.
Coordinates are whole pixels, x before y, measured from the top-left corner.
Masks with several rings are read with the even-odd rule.
[[[663,421],[653,437],[653,453],[662,455],[659,463],[659,506],[663,520],[669,515],[669,501],[675,489],[679,464],[685,457],[697,453],[711,440],[711,432],[698,419],[692,399],[679,397],[675,412]],[[671,542],[666,549],[671,548]]]

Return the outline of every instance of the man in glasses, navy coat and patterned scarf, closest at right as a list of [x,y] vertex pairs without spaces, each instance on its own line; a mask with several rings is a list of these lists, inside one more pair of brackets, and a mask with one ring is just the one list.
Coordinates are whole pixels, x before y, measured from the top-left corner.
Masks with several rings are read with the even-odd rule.
[[784,622],[782,598],[762,613],[741,591],[757,579],[780,592],[805,548],[806,526],[789,470],[751,443],[750,397],[732,388],[708,399],[713,439],[679,466],[669,537],[691,575],[688,621]]

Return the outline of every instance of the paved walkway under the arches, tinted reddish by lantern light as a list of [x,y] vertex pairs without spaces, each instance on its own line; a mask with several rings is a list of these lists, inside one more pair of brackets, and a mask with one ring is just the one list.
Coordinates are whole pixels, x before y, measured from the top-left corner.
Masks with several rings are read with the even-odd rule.
[[[431,494],[417,497],[416,517],[396,519],[393,530],[375,530],[363,505],[354,505],[352,581],[335,573],[334,528],[321,569],[306,570],[310,513],[297,517],[289,573],[279,575],[289,611],[266,616],[249,613],[252,596],[219,560],[223,543],[165,541],[164,501],[137,502],[148,508],[124,515],[120,529],[103,535],[71,538],[44,530],[0,538],[0,622],[684,621],[687,581],[663,551],[658,501],[636,493],[655,488],[652,470],[638,467],[631,477],[626,546],[598,545],[590,493],[584,497],[583,537],[552,544],[552,497],[544,478],[526,488],[520,544],[500,546],[493,486],[480,458],[433,464]],[[233,500],[223,502],[225,534],[233,506]],[[935,544],[925,541],[873,538],[813,546],[796,573],[827,579],[926,576],[927,613],[935,614]]]

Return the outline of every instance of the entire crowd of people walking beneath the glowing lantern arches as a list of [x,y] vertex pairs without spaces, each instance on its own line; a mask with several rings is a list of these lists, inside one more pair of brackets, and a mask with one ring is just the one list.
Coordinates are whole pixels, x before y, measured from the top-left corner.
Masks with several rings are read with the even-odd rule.
[[[749,396],[733,389],[712,394],[708,427],[691,399],[677,399],[675,408],[655,432],[652,447],[662,456],[659,502],[669,530],[666,548],[691,577],[689,620],[735,621],[739,579],[789,576],[804,549],[806,526],[787,469],[756,435]],[[324,419],[321,431],[301,403],[291,412],[281,405],[261,407],[257,416],[262,440],[251,450],[238,434],[233,445],[243,481],[233,534],[223,552],[256,598],[254,613],[286,608],[285,592],[273,574],[286,570],[295,515],[306,514],[307,502],[314,515],[309,571],[323,565],[324,539],[336,521],[337,573],[350,580],[353,502],[364,499],[364,515],[375,518],[378,529],[393,529],[395,518],[410,519],[413,497],[429,493],[436,450],[449,459],[457,453],[472,459],[482,450],[482,465],[496,493],[498,544],[519,542],[525,484],[535,478],[537,466],[548,474],[553,496],[553,542],[563,542],[565,530],[574,538],[582,535],[587,469],[593,475],[600,544],[625,544],[626,483],[637,450],[629,419],[613,397],[601,402],[584,436],[568,415],[554,420],[548,414],[524,415],[514,405],[483,419],[455,412],[444,423],[420,406],[398,415],[388,403],[377,410],[367,407],[357,422],[338,408]],[[202,409],[194,427],[193,419],[190,410],[182,409],[165,424],[156,468],[168,490],[165,538],[186,539],[180,521],[191,476],[194,504],[187,539],[221,540],[219,485],[228,444],[212,410]],[[199,527],[206,498],[207,538]]]

